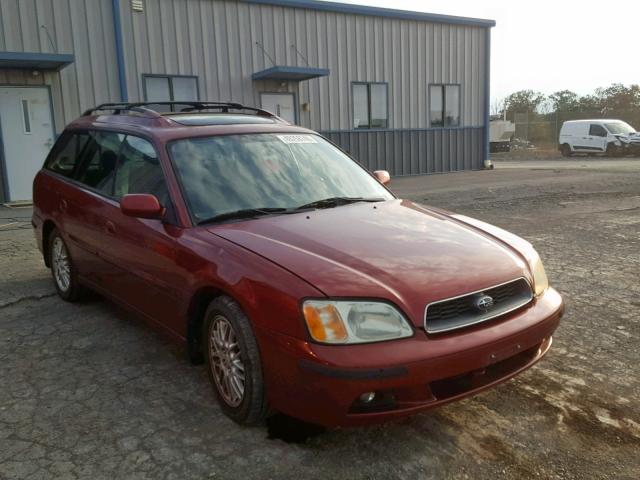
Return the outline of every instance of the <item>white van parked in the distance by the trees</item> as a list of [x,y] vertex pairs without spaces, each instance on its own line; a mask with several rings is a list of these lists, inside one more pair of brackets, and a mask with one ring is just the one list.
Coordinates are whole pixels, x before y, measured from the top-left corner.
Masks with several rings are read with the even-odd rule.
[[573,153],[621,155],[640,151],[640,134],[622,120],[571,120],[560,129],[558,149]]

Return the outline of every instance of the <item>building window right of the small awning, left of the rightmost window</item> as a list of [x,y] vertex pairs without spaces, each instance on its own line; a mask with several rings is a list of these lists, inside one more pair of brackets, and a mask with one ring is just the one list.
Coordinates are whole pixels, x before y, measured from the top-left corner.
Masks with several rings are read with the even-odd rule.
[[353,128],[388,128],[387,84],[351,84],[353,97]]

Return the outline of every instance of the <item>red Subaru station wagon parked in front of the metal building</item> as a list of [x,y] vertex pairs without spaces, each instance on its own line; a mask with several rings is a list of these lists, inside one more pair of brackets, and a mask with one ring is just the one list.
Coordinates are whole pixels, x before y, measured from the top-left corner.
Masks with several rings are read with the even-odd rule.
[[362,425],[513,377],[563,313],[528,242],[388,181],[263,110],[106,104],[56,142],[33,225],[64,300],[185,342],[236,422]]

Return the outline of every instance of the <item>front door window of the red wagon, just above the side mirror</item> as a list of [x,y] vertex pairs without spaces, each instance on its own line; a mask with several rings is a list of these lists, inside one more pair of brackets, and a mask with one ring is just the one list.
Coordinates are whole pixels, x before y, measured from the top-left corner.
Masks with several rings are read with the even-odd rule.
[[131,135],[125,138],[120,150],[114,195],[120,198],[129,193],[150,193],[158,198],[161,205],[167,205],[169,199],[153,145]]

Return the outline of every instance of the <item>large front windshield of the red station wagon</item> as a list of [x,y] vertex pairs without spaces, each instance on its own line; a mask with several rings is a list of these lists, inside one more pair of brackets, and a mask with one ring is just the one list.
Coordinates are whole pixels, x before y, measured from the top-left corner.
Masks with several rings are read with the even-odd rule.
[[169,153],[196,223],[240,210],[294,209],[333,197],[393,198],[317,135],[189,138],[172,142]]

